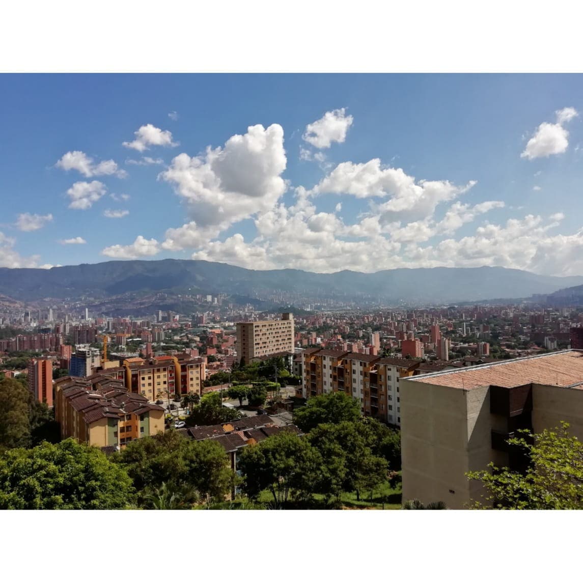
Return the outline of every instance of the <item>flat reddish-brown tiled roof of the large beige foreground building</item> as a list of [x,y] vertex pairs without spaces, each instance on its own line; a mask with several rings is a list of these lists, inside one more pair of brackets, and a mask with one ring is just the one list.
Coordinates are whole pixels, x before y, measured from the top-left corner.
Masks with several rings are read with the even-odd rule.
[[565,350],[522,359],[501,360],[494,364],[421,375],[410,380],[459,389],[490,385],[510,388],[531,382],[557,387],[571,387],[581,383],[583,388],[583,352]]

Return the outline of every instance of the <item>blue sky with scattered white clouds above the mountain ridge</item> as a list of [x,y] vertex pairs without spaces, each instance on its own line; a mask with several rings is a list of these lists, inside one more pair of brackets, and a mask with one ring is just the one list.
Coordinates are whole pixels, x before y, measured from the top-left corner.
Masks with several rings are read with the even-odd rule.
[[583,275],[583,76],[0,75],[0,266]]

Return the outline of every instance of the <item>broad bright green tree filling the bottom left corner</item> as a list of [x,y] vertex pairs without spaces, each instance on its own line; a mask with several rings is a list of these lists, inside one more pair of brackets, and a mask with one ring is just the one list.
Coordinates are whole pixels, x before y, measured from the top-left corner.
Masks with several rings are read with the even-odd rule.
[[110,510],[133,499],[124,469],[72,439],[11,449],[0,458],[2,510]]

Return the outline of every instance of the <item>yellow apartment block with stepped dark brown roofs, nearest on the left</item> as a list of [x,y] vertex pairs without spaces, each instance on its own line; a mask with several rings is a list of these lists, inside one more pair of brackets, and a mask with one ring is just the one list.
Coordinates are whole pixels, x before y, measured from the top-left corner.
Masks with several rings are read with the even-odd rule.
[[99,374],[55,381],[55,420],[62,439],[73,437],[96,447],[119,449],[164,431],[163,408]]

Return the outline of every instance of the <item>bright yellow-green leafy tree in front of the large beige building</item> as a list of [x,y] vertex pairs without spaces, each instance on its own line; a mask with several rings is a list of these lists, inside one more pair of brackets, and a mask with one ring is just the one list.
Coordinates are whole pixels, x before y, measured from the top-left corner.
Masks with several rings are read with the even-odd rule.
[[486,489],[487,503],[475,502],[476,508],[512,510],[583,509],[583,443],[568,433],[569,424],[508,440],[528,456],[525,473],[499,469],[469,472],[470,480],[480,480]]

